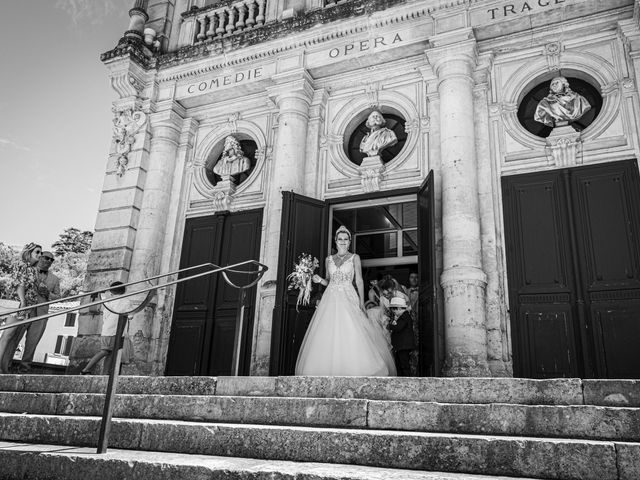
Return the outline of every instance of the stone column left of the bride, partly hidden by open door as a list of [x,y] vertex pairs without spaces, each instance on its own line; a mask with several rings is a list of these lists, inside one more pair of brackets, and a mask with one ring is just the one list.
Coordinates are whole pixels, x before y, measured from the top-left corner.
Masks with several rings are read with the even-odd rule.
[[309,106],[313,98],[311,77],[304,71],[276,75],[277,85],[268,89],[278,106],[278,133],[265,207],[265,238],[262,258],[269,267],[261,285],[260,311],[254,344],[252,375],[269,373],[271,322],[275,303],[276,275],[282,219],[282,192],[304,193]]

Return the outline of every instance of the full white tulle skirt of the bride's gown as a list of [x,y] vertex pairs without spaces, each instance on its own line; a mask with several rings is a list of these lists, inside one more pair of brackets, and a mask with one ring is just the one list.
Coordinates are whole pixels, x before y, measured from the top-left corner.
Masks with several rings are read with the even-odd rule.
[[329,284],[302,341],[296,375],[396,375],[390,346],[351,285]]

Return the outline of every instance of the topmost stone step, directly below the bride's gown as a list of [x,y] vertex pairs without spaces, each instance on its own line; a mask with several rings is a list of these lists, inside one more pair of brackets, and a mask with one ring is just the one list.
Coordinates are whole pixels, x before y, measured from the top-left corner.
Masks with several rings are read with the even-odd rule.
[[[0,391],[104,393],[107,377],[0,375]],[[121,377],[118,393],[640,407],[640,380],[381,377]]]

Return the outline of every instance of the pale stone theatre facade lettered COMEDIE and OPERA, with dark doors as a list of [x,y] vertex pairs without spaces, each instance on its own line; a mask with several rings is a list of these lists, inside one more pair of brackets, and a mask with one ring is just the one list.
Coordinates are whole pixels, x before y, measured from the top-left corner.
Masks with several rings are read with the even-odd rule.
[[[238,239],[269,270],[242,326],[221,281],[161,290],[125,371],[290,373],[282,276],[317,247],[305,231],[319,256],[348,214],[402,205],[386,240],[356,227],[354,243],[371,275],[419,270],[420,374],[640,373],[640,2],[149,0],[130,16],[102,55],[119,98],[87,288],[242,260]],[[544,131],[533,106],[560,75],[592,113]],[[401,146],[356,158],[374,109]],[[229,136],[251,169],[220,179]],[[80,322],[72,369],[100,321]]]

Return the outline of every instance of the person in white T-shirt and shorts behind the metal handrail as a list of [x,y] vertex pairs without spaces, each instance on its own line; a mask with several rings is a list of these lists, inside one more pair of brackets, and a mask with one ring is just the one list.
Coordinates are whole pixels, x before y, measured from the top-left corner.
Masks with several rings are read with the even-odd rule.
[[[125,293],[126,288],[122,286],[122,282],[113,282],[109,285],[110,290],[103,296],[104,299],[108,299],[110,297],[122,295]],[[110,302],[105,303],[111,310],[116,312],[125,311],[128,305],[128,299],[116,299]],[[113,313],[109,311],[104,306],[102,307],[102,330],[100,332],[100,350],[89,360],[89,363],[85,365],[85,367],[80,371],[81,375],[91,375],[93,369],[98,364],[100,360],[107,357],[105,361],[104,370],[107,373],[111,371],[111,362],[113,362],[115,355],[113,355],[113,348],[116,342],[116,330],[118,328],[118,317],[117,313]],[[125,337],[122,339],[122,363],[129,363],[131,357],[131,341],[126,337],[126,328],[125,328]]]

